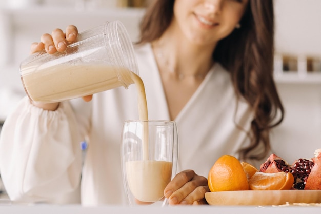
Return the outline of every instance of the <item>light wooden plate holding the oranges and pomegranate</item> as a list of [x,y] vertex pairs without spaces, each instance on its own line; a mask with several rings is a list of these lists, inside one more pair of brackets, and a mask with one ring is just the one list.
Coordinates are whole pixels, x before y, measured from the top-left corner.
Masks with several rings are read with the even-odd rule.
[[206,192],[210,205],[282,205],[292,203],[321,203],[321,190],[246,190]]

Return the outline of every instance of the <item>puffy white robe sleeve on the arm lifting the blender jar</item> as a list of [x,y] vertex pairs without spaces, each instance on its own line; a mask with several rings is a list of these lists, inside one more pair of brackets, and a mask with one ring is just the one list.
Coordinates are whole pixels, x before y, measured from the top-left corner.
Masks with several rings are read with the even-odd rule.
[[84,139],[69,102],[55,111],[26,97],[7,117],[0,135],[0,174],[12,201],[46,202],[79,186]]

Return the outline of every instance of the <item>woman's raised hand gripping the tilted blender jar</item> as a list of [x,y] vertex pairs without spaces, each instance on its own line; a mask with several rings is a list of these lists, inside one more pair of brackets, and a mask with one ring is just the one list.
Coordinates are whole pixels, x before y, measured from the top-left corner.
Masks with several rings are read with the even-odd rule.
[[[47,53],[53,54],[57,51],[63,52],[66,50],[67,45],[76,40],[78,35],[78,29],[74,25],[69,25],[64,33],[61,29],[55,29],[51,34],[45,33],[41,36],[41,42],[32,43],[30,53],[35,53],[43,49]],[[92,99],[92,95],[84,96],[83,99],[88,102]],[[43,108],[45,110],[56,110],[59,103],[34,103],[33,105]]]

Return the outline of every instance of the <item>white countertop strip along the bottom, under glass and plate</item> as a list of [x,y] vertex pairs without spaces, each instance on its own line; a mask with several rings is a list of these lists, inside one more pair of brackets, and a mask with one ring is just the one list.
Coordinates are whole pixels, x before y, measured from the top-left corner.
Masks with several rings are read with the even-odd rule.
[[37,214],[37,213],[77,213],[77,214],[100,214],[100,213],[139,213],[139,214],[302,214],[302,213],[321,213],[321,207],[316,206],[287,206],[287,207],[255,207],[255,206],[235,206],[235,207],[217,207],[210,205],[203,206],[172,206],[172,207],[118,207],[118,206],[98,206],[98,207],[82,207],[79,205],[66,205],[66,206],[54,206],[54,205],[9,205],[0,204],[0,213],[24,213],[24,214]]

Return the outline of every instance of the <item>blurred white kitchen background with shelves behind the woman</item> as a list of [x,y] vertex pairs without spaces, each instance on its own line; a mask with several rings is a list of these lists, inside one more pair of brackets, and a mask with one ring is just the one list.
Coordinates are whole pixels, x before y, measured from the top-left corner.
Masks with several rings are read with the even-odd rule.
[[[0,131],[8,113],[25,95],[19,63],[29,55],[32,42],[69,24],[81,32],[111,20],[122,21],[134,42],[146,1],[1,0]],[[274,0],[274,5],[274,72],[286,116],[273,132],[272,146],[292,162],[310,158],[321,148],[321,1]]]

